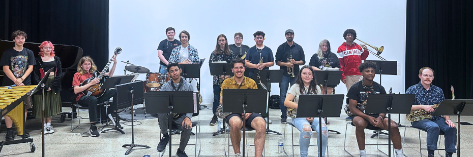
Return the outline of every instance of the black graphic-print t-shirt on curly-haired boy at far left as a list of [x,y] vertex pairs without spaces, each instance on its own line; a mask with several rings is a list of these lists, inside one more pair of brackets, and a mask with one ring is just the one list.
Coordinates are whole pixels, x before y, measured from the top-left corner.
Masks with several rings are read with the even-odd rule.
[[[9,66],[8,69],[12,71],[16,78],[20,78],[28,69],[29,65],[36,65],[35,55],[33,51],[23,48],[21,51],[16,51],[13,48],[6,50],[2,59],[0,59],[0,66]],[[31,85],[31,74],[26,76],[23,81],[24,85]],[[4,75],[2,86],[14,85],[13,81]]]

